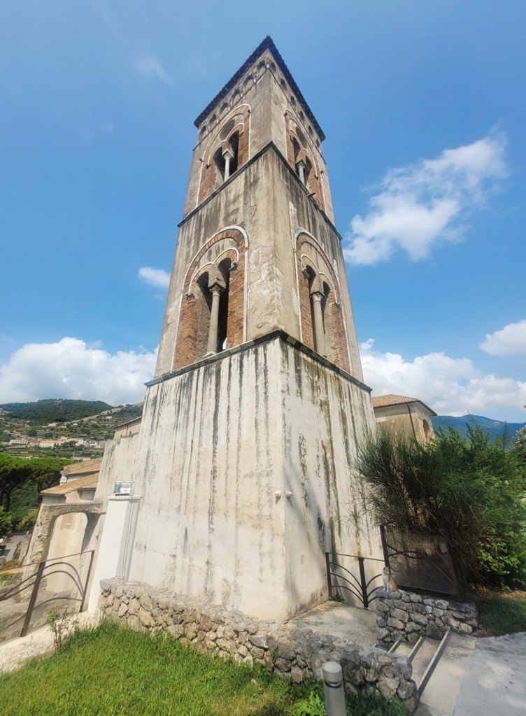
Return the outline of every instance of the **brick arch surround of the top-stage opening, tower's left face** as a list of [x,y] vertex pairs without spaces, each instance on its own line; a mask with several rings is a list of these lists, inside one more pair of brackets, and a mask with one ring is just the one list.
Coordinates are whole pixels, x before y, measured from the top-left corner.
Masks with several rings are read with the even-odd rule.
[[[232,127],[228,137],[224,140],[219,140],[219,135],[224,125],[226,125],[232,117],[236,115],[242,115],[243,125],[238,124]],[[242,127],[242,128],[240,128]],[[216,188],[219,187],[219,180],[217,177],[216,165],[214,162],[214,155],[216,151],[221,148],[225,149],[228,145],[231,135],[235,132],[239,132],[239,145],[237,147],[237,168],[241,167],[247,160],[249,160],[249,145],[250,145],[250,107],[249,105],[241,105],[240,107],[234,107],[225,117],[221,118],[221,122],[216,127],[214,134],[210,137],[209,143],[206,146],[206,150],[203,155],[203,163],[201,165],[201,180],[199,183],[199,197],[197,203],[200,204],[204,201],[207,196],[210,196]]]

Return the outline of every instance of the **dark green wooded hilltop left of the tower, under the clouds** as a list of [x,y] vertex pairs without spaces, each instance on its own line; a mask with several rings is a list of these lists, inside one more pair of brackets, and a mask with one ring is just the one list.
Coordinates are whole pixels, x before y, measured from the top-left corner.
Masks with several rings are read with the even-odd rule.
[[81,420],[83,417],[98,415],[111,410],[102,400],[62,400],[47,398],[28,403],[4,403],[1,410],[6,411],[4,417],[15,420],[28,420],[34,425],[47,425],[49,422],[69,422]]

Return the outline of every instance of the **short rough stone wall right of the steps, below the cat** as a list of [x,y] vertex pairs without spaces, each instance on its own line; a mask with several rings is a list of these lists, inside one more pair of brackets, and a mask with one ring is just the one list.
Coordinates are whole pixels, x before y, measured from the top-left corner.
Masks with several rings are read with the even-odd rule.
[[376,634],[383,644],[396,639],[416,642],[422,635],[441,639],[448,629],[471,634],[477,629],[477,607],[472,601],[446,601],[408,591],[379,589]]

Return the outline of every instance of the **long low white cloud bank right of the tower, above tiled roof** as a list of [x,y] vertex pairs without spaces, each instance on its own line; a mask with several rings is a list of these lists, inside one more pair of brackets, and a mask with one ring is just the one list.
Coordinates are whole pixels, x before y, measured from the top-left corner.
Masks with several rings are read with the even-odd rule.
[[372,339],[360,344],[360,354],[373,395],[416,397],[439,415],[494,417],[495,411],[516,413],[526,403],[526,382],[484,374],[468,358],[430,353],[407,361],[400,354],[374,350]]

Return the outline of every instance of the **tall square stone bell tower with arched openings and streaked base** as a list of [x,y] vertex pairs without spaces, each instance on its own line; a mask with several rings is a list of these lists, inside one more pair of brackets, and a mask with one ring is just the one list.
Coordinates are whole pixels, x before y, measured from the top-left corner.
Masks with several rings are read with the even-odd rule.
[[100,489],[134,482],[123,576],[284,619],[327,598],[325,551],[373,551],[325,135],[269,37],[195,124],[156,377]]

